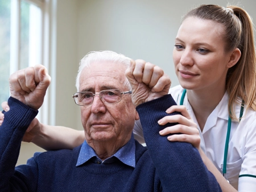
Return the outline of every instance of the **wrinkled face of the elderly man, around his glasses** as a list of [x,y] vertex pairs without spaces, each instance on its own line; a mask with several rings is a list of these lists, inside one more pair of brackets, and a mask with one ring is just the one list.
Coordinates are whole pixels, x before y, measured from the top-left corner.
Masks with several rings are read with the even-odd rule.
[[[125,66],[117,63],[92,63],[85,67],[80,76],[80,92],[98,93],[106,89],[130,91],[123,85]],[[88,144],[94,142],[126,143],[133,131],[137,112],[130,95],[122,95],[115,104],[102,103],[100,96],[94,96],[91,105],[81,106],[81,121]]]

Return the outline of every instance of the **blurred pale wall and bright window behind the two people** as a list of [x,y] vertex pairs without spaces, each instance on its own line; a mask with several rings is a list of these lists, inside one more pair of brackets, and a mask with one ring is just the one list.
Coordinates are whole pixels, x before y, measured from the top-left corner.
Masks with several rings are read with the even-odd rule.
[[[10,96],[10,74],[42,64],[52,82],[39,109],[40,122],[82,130],[80,108],[71,96],[79,61],[92,50],[154,63],[176,86],[176,32],[181,16],[201,4],[238,5],[256,22],[254,0],[0,0],[0,103]],[[17,164],[36,151],[44,150],[22,143]]]

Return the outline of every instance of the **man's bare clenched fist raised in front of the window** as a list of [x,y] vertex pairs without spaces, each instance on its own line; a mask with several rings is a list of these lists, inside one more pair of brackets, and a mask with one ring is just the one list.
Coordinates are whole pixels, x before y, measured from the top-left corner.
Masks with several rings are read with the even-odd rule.
[[51,77],[43,65],[16,71],[9,79],[11,97],[38,110],[43,104],[50,82]]

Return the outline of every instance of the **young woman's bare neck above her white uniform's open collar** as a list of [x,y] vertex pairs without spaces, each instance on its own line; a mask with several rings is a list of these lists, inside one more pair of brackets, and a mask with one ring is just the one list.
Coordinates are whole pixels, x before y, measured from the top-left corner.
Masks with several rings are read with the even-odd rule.
[[220,87],[207,90],[187,90],[189,104],[192,106],[201,131],[203,131],[210,113],[220,103],[224,94],[225,88]]

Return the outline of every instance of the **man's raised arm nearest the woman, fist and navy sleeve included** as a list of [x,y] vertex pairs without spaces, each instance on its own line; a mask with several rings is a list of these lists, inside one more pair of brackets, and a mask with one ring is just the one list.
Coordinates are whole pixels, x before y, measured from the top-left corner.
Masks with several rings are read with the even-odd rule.
[[169,142],[159,131],[177,123],[160,126],[158,120],[167,115],[166,109],[176,105],[171,95],[170,78],[158,66],[143,60],[132,61],[126,70],[132,87],[132,100],[143,127],[144,139],[163,191],[221,191],[212,173],[205,167],[199,152],[190,143]]

